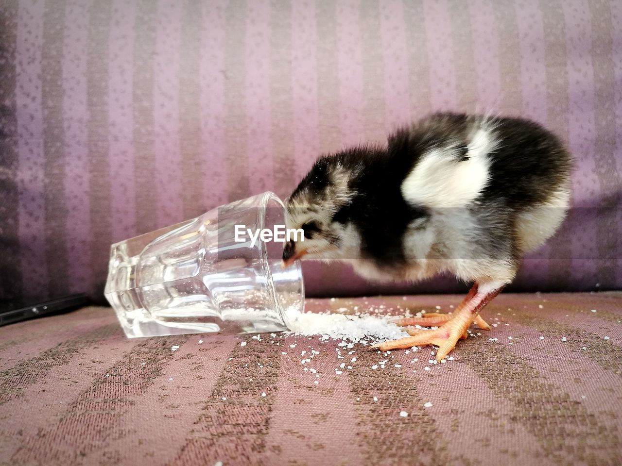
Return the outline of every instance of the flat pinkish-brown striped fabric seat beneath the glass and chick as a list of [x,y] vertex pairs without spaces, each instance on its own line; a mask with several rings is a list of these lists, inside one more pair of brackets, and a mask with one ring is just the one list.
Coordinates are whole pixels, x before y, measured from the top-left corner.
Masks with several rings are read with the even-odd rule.
[[2,327],[0,465],[620,465],[622,293],[502,294],[483,316],[436,365],[283,334],[129,340],[109,308]]

